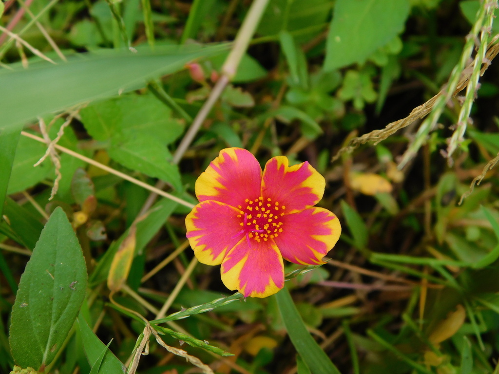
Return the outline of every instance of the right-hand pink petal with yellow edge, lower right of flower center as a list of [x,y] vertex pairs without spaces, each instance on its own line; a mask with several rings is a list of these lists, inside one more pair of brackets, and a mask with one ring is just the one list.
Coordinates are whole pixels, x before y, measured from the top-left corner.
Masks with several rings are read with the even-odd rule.
[[323,264],[322,257],[341,234],[338,218],[323,208],[308,208],[282,216],[282,232],[273,240],[282,257],[296,264]]

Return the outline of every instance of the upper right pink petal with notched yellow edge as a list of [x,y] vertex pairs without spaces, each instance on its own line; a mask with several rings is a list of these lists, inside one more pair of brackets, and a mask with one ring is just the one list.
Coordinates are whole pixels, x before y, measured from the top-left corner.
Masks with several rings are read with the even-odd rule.
[[308,162],[288,166],[284,156],[273,157],[265,165],[261,195],[284,205],[284,214],[309,208],[320,201],[326,181]]

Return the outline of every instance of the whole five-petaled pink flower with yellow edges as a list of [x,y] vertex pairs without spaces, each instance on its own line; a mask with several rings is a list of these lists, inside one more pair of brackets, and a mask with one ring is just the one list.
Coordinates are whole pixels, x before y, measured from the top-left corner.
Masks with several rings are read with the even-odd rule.
[[263,173],[254,156],[226,148],[196,182],[200,203],[187,215],[187,237],[198,260],[220,265],[222,281],[245,297],[266,297],[284,286],[282,258],[322,264],[341,225],[314,207],[324,178],[308,162],[271,158]]

